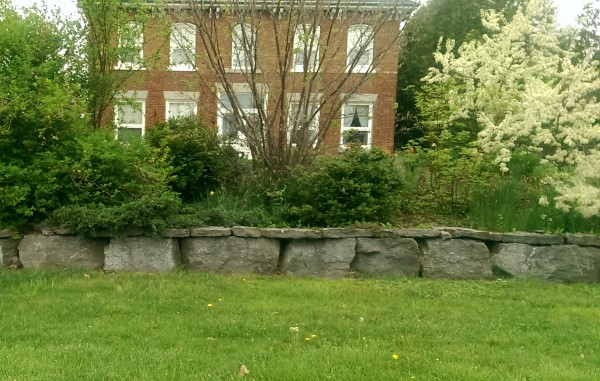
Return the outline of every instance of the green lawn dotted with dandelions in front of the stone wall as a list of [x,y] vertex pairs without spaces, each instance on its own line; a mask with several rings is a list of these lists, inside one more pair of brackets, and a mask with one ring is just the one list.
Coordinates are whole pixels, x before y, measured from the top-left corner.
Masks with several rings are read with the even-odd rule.
[[0,381],[600,379],[600,285],[0,271],[0,328]]

